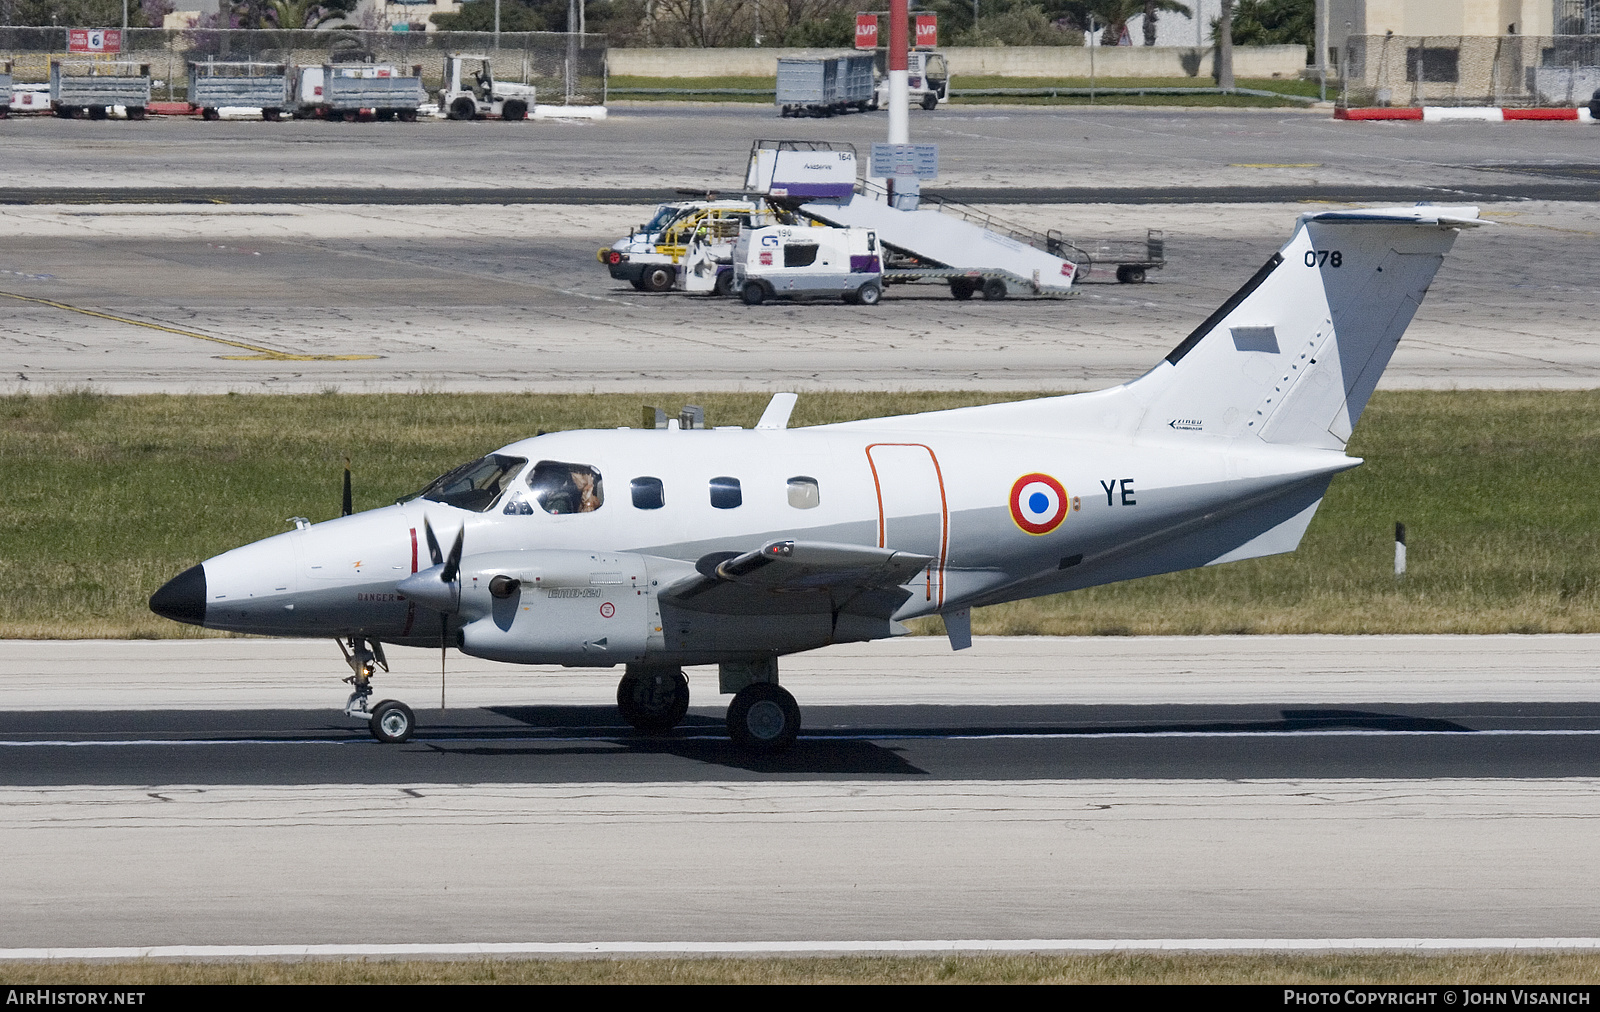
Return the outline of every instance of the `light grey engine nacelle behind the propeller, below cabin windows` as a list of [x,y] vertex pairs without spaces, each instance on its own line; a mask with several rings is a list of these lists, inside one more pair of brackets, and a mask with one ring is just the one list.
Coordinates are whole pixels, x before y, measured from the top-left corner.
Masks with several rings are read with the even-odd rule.
[[608,668],[662,642],[650,565],[632,552],[470,556],[461,616],[461,652],[491,661]]

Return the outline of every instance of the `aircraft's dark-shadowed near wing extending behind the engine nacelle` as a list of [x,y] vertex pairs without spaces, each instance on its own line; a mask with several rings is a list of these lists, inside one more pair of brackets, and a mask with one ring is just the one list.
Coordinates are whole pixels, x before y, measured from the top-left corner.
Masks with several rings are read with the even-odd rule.
[[662,604],[722,615],[850,612],[888,618],[910,597],[904,588],[933,562],[890,548],[773,541],[754,552],[712,554],[696,575],[661,592]]

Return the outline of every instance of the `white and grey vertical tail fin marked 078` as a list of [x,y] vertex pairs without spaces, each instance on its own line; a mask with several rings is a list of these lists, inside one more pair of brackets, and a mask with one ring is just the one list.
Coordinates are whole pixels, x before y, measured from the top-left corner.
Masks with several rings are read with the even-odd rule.
[[1302,215],[1294,235],[1131,384],[1144,429],[1342,450],[1470,207]]

